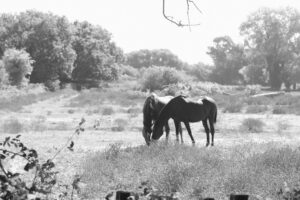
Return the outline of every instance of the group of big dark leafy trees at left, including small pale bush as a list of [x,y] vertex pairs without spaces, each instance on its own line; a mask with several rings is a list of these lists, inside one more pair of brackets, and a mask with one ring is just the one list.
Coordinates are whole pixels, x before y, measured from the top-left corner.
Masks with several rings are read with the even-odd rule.
[[[22,85],[115,80],[124,60],[111,33],[88,22],[26,11],[0,16],[0,81]],[[27,82],[28,82],[27,81]]]

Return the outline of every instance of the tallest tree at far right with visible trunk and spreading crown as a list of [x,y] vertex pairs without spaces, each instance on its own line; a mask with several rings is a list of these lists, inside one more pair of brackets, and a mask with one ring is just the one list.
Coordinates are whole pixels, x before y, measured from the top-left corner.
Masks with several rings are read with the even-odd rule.
[[300,14],[296,9],[260,9],[240,26],[245,45],[257,52],[272,89],[280,89],[285,67],[300,52]]

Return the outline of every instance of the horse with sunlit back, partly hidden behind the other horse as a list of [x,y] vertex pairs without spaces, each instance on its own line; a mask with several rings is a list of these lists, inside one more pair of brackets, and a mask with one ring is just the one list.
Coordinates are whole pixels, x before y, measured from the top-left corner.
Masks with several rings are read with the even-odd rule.
[[[146,98],[144,107],[143,107],[143,136],[145,138],[146,143],[149,145],[150,136],[152,133],[152,125],[158,119],[160,111],[163,109],[167,103],[174,98],[173,96],[164,96],[159,97],[156,94],[152,93],[149,97]],[[180,122],[174,120],[175,128],[176,128],[176,140],[179,141],[178,134],[180,133],[181,142],[183,143],[182,139],[182,130],[180,126]],[[168,124],[168,120],[165,120],[162,124],[161,129],[165,127],[166,131],[166,139],[169,137],[170,127]],[[163,134],[163,133],[162,133]]]

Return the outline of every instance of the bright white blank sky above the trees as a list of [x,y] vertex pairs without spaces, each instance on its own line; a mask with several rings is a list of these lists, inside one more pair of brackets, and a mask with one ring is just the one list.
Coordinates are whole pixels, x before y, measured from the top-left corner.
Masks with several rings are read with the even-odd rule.
[[[2,2],[1,2],[2,1]],[[261,7],[293,7],[300,0],[194,0],[201,10],[190,7],[190,22],[178,27],[162,15],[163,0],[0,0],[0,13],[18,14],[34,9],[66,16],[71,22],[88,21],[112,34],[112,40],[125,53],[140,49],[169,49],[181,60],[212,64],[208,46],[219,36],[242,42],[239,26]],[[186,0],[165,0],[165,12],[187,22]]]

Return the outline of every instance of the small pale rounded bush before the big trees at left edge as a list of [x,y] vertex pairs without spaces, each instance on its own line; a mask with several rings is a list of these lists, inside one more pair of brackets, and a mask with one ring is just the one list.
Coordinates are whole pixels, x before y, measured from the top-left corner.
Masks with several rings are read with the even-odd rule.
[[26,75],[31,74],[34,61],[24,49],[5,50],[2,61],[8,73],[10,85],[23,86],[28,83]]

